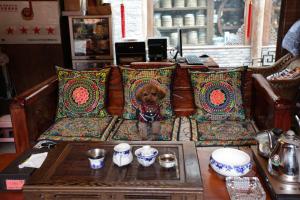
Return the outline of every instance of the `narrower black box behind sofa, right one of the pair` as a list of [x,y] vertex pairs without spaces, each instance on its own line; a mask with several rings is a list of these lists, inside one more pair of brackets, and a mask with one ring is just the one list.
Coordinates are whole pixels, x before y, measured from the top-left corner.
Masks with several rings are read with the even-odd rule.
[[162,61],[167,59],[167,39],[148,39],[148,56],[150,61]]

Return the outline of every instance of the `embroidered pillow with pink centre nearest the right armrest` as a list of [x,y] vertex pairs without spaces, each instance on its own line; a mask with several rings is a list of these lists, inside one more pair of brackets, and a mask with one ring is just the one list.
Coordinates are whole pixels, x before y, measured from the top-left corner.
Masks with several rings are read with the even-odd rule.
[[199,72],[189,71],[197,112],[205,120],[244,120],[241,77],[244,69]]

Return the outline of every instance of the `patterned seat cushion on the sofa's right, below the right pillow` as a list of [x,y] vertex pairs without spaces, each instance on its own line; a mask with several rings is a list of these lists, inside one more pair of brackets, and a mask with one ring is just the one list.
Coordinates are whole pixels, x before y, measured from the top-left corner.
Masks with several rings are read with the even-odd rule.
[[256,144],[257,128],[252,121],[191,120],[192,140],[197,146],[227,146]]

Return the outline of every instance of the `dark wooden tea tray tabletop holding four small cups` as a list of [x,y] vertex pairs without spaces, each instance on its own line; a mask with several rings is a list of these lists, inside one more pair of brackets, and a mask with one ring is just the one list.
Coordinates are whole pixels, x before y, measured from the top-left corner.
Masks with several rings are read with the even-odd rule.
[[[42,167],[34,172],[24,186],[24,191],[47,190],[47,186],[58,190],[70,187],[80,190],[115,190],[126,188],[133,191],[164,191],[180,188],[187,192],[202,192],[202,179],[195,144],[193,142],[128,142],[134,151],[143,145],[156,148],[159,155],[174,153],[178,164],[174,168],[162,168],[156,159],[149,167],[141,166],[136,156],[133,161],[118,167],[112,161],[116,142],[63,142],[49,152]],[[100,148],[106,151],[104,167],[91,169],[86,152]]]

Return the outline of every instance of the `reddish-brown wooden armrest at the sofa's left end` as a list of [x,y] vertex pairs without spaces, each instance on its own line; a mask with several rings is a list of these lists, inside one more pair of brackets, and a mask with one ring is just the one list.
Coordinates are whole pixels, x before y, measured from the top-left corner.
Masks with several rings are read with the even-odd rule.
[[58,81],[53,76],[15,97],[10,105],[16,151],[30,148],[54,123]]

